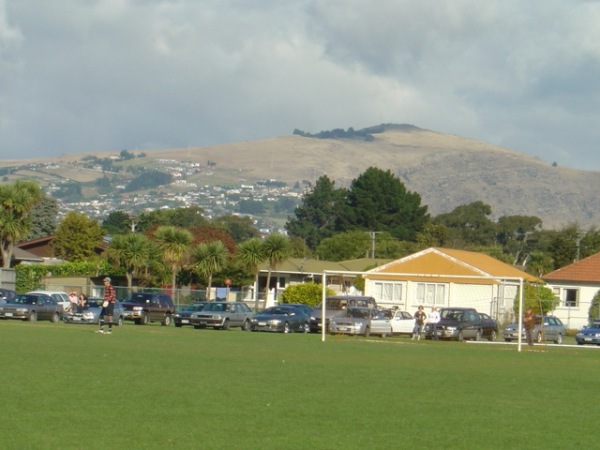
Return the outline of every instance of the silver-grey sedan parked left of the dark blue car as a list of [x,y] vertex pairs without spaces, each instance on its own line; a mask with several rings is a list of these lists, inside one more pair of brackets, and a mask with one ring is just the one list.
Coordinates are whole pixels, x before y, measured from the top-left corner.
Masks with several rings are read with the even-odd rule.
[[208,302],[194,318],[194,328],[250,329],[252,310],[244,302]]

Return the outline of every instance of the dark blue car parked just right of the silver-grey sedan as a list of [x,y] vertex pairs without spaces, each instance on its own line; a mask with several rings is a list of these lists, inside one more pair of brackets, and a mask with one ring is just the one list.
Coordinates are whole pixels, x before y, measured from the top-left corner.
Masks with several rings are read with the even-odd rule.
[[250,320],[252,331],[275,331],[291,333],[299,331],[308,333],[310,314],[293,305],[278,305],[257,313]]

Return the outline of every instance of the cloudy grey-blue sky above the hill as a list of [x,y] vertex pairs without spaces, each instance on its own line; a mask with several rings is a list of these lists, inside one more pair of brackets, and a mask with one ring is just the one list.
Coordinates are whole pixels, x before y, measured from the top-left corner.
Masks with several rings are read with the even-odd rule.
[[380,123],[600,170],[600,1],[0,0],[0,158]]

